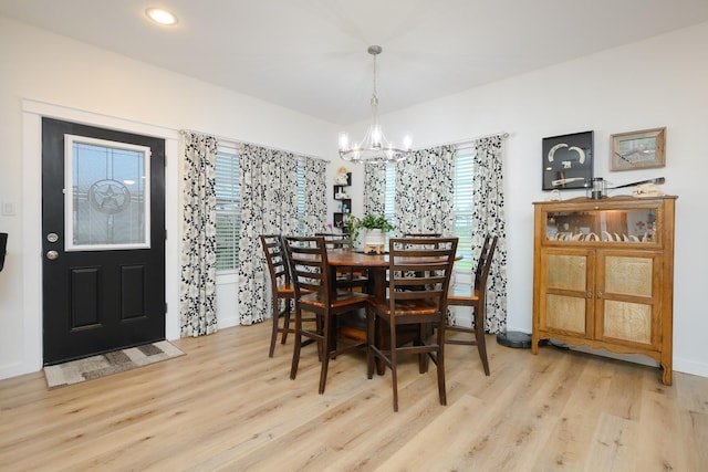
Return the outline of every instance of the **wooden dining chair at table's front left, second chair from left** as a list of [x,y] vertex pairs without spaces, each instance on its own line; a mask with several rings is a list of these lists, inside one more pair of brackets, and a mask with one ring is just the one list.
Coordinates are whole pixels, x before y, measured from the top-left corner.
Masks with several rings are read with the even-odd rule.
[[[294,379],[300,363],[302,337],[313,339],[321,347],[320,394],[324,394],[330,359],[355,348],[368,348],[363,340],[336,340],[336,318],[360,316],[364,311],[369,318],[369,295],[337,289],[330,280],[327,248],[323,237],[285,237],[288,263],[295,297],[295,342],[290,378]],[[310,329],[302,324],[302,312],[314,313],[322,329]]]

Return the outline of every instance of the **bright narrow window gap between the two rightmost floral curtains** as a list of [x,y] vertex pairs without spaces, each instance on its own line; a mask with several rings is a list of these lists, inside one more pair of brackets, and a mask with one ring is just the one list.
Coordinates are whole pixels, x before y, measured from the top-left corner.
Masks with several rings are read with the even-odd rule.
[[462,256],[460,261],[455,263],[455,270],[461,272],[472,270],[472,211],[475,209],[472,156],[473,150],[470,147],[459,147],[455,151],[452,234],[459,238],[457,253]]

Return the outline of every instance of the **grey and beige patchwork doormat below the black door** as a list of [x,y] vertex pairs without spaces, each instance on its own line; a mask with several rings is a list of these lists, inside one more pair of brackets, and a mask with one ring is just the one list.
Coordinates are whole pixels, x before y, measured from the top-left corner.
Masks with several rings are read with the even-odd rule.
[[51,389],[123,373],[184,355],[185,353],[170,343],[160,340],[85,359],[46,366],[44,367],[44,376],[46,385]]

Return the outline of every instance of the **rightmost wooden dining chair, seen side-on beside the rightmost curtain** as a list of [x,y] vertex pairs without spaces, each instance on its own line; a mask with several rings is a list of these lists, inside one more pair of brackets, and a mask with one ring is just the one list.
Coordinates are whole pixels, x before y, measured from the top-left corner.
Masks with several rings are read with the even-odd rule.
[[447,344],[461,344],[467,346],[477,346],[479,358],[485,368],[485,375],[489,376],[489,360],[487,359],[487,344],[485,343],[485,305],[487,294],[487,277],[491,268],[491,261],[494,256],[494,249],[499,237],[487,235],[482,244],[482,251],[479,254],[477,269],[475,270],[473,285],[454,285],[447,296],[449,306],[470,306],[473,315],[473,326],[458,326],[446,324],[447,332],[473,334],[470,338],[449,338],[446,336]]

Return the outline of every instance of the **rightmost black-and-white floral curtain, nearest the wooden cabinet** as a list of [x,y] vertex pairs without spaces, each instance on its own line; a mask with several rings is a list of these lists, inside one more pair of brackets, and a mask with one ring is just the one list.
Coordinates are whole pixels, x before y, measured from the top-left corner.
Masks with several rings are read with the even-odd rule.
[[488,333],[507,329],[507,230],[501,174],[503,135],[475,141],[472,212],[472,260],[479,258],[485,234],[499,237],[487,281],[486,326]]

